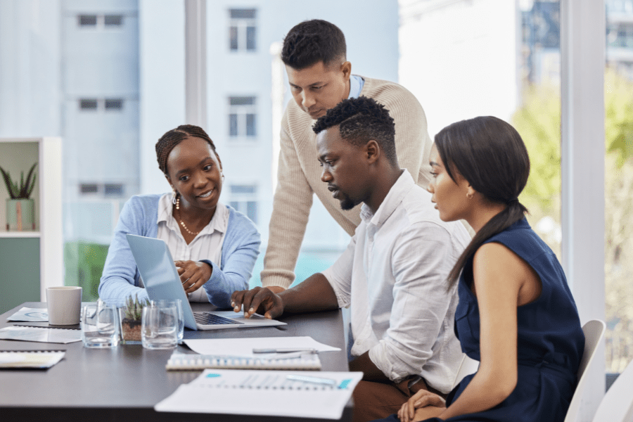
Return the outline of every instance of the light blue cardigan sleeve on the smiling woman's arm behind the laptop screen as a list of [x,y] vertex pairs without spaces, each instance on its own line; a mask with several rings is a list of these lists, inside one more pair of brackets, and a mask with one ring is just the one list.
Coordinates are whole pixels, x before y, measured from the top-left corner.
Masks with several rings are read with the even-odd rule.
[[133,196],[119,215],[99,283],[99,298],[110,305],[123,306],[130,295],[138,294],[139,300],[148,298],[147,290],[141,288],[139,272],[125,234],[156,237],[158,198],[160,196]]

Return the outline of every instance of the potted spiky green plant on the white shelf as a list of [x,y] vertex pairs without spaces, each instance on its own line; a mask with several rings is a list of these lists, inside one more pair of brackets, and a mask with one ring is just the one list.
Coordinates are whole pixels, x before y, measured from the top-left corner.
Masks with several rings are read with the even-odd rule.
[[17,180],[11,179],[11,174],[5,172],[0,167],[2,178],[6,185],[9,197],[6,199],[6,230],[23,231],[35,230],[35,207],[33,200],[30,199],[33,188],[35,187],[35,166],[31,166],[31,170],[24,179],[24,172],[20,174],[20,184]]

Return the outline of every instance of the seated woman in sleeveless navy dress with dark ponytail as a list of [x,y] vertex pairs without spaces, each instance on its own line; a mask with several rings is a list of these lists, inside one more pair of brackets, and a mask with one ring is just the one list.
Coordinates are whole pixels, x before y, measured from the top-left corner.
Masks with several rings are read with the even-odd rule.
[[448,282],[459,283],[455,333],[480,366],[446,402],[421,390],[390,420],[563,421],[584,335],[563,269],[518,201],[523,140],[496,117],[456,122],[435,136],[430,165],[440,218],[475,230]]

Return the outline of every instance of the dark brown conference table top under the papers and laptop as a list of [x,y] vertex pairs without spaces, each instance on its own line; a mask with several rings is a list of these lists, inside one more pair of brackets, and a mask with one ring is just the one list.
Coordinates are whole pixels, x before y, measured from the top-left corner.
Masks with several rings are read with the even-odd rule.
[[[213,310],[210,304],[192,303],[196,310]],[[46,308],[45,302],[26,302],[0,315],[0,328],[48,323],[8,322],[21,307]],[[340,348],[321,352],[323,371],[348,371],[340,310],[291,314],[280,318],[287,326],[227,328],[191,331],[184,338],[283,337],[309,335]],[[68,344],[0,340],[0,350],[65,350],[65,357],[50,369],[0,370],[0,419],[2,421],[325,421],[316,418],[281,418],[226,414],[184,414],[154,411],[155,404],[179,385],[193,381],[201,371],[167,371],[174,350],[146,350],[141,345],[88,349],[81,341]],[[186,345],[179,352],[192,353]],[[248,407],[245,402],[244,407]],[[340,421],[352,420],[353,403],[347,403]]]

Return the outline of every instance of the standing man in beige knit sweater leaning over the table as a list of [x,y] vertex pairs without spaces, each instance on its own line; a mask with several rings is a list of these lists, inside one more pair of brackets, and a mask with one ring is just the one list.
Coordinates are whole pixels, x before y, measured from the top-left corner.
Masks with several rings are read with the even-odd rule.
[[428,158],[433,145],[424,110],[411,92],[394,82],[352,75],[345,36],[335,25],[325,20],[296,25],[283,40],[281,60],[295,101],[288,103],[281,120],[278,184],[261,274],[262,286],[275,292],[288,288],[295,278],[313,193],[350,236],[361,222],[360,207],[341,210],[321,182],[312,132],[316,119],[346,98],[366,96],[383,104],[395,120],[399,164],[424,188],[430,181]]

